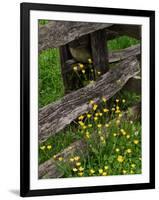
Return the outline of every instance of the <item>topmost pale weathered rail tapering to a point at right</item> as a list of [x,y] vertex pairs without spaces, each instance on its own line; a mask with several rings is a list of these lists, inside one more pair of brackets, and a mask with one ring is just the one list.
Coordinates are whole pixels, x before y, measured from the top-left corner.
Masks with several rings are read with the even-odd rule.
[[39,51],[65,45],[83,35],[111,25],[107,23],[50,21],[46,25],[39,25]]

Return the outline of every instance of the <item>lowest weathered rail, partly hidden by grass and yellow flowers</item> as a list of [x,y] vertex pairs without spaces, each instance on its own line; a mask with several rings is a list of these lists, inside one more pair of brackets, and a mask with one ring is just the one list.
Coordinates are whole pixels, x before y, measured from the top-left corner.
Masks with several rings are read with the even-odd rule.
[[[141,102],[133,107],[128,108],[127,111],[123,111],[121,114],[122,120],[138,120],[141,117]],[[116,119],[113,119],[112,121],[114,120]],[[97,133],[94,132],[94,134]],[[56,160],[58,160],[59,157],[62,157],[64,159],[63,161],[67,162],[71,156],[75,155],[75,153],[78,155],[80,153],[86,154],[86,150],[86,143],[84,140],[78,140],[72,143],[69,147],[65,148],[62,152],[56,154]],[[59,172],[56,161],[53,158],[50,158],[49,160],[39,165],[38,175],[41,179],[60,178],[63,176],[63,174]]]

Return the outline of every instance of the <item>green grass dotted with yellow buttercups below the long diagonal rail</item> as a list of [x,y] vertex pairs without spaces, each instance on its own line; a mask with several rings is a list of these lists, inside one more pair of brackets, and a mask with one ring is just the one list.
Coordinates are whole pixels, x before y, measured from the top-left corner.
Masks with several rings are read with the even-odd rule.
[[[104,113],[103,104],[92,109],[90,118],[88,113],[80,117],[76,134],[85,140],[87,148],[67,162],[55,159],[64,177],[141,173],[141,124],[122,118],[121,110],[117,112],[117,106],[120,109],[122,104],[116,103],[113,113]],[[95,119],[99,113],[102,116]]]

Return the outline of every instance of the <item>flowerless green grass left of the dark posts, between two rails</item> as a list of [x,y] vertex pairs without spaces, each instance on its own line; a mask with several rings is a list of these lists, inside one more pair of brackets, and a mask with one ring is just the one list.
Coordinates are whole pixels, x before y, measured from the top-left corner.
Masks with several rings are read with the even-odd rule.
[[48,49],[39,56],[39,107],[64,95],[58,49]]

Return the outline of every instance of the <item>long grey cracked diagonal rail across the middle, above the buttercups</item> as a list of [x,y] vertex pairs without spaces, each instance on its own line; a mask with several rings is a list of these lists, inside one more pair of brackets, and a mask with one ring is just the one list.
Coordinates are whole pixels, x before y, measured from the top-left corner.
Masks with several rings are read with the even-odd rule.
[[110,99],[125,83],[139,73],[135,57],[123,60],[115,68],[102,75],[95,83],[64,96],[39,110],[39,143],[56,134],[79,115],[90,110],[89,100],[100,101],[102,96]]

